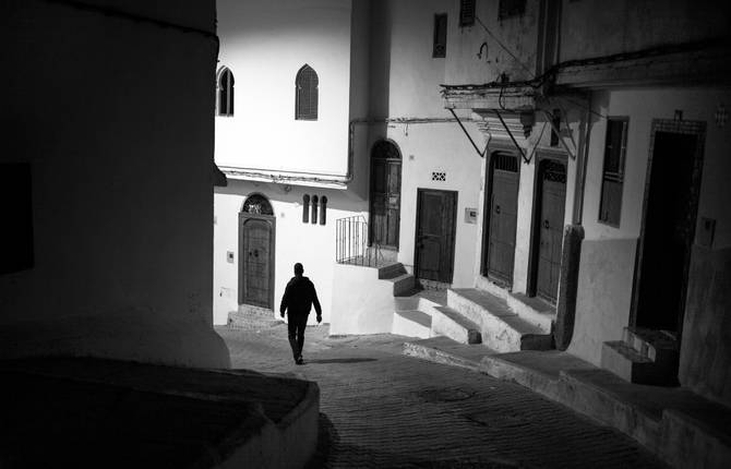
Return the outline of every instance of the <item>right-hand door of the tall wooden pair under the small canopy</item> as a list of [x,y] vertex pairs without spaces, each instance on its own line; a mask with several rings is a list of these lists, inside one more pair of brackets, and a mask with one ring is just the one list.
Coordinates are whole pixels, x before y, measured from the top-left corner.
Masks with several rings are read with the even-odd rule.
[[566,201],[566,167],[546,159],[539,168],[540,216],[538,217],[538,262],[536,294],[555,303],[561,275],[564,205]]

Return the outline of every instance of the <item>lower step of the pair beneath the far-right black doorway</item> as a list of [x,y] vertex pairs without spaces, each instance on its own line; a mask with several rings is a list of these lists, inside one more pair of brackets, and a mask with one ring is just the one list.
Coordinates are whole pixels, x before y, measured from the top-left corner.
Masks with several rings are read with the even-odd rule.
[[678,369],[656,363],[623,340],[606,341],[601,349],[601,368],[635,384],[678,385]]

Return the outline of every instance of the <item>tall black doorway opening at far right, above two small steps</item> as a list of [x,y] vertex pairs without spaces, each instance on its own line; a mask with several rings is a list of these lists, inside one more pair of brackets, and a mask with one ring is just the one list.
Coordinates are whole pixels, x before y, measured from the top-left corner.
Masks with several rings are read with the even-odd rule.
[[[633,315],[636,327],[664,330],[680,341],[700,182],[700,133],[664,131],[662,122],[654,123],[647,166]],[[685,125],[693,130],[692,123]]]

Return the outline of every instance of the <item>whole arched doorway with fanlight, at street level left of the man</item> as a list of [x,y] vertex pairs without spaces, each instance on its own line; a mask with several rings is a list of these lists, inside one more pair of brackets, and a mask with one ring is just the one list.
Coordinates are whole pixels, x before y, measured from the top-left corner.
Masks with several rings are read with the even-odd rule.
[[239,214],[239,304],[274,305],[275,223],[264,195],[247,197]]

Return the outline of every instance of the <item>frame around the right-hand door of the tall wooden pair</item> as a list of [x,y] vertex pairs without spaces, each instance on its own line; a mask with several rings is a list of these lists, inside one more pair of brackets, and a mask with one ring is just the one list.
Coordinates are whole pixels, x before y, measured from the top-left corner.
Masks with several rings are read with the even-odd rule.
[[[534,172],[534,196],[532,196],[532,212],[530,214],[530,245],[528,248],[528,281],[526,282],[526,294],[528,297],[537,297],[538,291],[538,257],[540,254],[540,217],[543,204],[543,175],[541,171],[541,163],[546,160],[553,160],[560,163],[566,169],[566,191],[564,192],[564,214],[563,220],[565,226],[566,220],[566,195],[568,192],[568,155],[565,152],[556,149],[537,149],[534,159],[536,163],[536,170]],[[563,232],[563,229],[561,230]],[[561,241],[563,246],[563,239]],[[563,269],[563,264],[561,265]],[[560,273],[559,273],[560,274]],[[561,280],[559,280],[559,289],[561,289]]]

